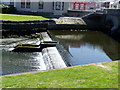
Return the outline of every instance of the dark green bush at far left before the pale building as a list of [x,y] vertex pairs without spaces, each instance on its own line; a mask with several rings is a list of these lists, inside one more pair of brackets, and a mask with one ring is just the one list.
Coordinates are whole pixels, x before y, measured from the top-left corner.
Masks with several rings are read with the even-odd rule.
[[0,9],[2,9],[2,13],[17,13],[17,10],[13,5],[0,4]]

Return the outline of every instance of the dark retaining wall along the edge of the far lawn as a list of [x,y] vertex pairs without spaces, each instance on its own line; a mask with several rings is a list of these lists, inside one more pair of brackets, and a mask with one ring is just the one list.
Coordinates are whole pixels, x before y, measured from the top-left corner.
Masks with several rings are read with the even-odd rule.
[[47,28],[49,24],[55,24],[53,20],[34,20],[34,21],[0,21],[2,29],[7,30],[30,30],[30,29],[42,29]]

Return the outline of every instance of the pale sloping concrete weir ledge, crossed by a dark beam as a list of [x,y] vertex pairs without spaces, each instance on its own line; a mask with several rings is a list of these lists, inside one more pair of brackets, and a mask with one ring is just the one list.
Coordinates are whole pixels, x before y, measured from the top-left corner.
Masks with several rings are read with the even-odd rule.
[[[43,41],[52,41],[47,32],[41,33]],[[48,47],[42,50],[46,69],[57,69],[67,67],[56,47]]]

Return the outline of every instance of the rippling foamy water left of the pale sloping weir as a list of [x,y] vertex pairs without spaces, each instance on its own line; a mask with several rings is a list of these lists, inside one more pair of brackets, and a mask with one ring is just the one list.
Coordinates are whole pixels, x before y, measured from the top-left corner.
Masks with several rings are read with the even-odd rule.
[[2,75],[46,70],[41,52],[18,53],[10,52],[20,43],[37,43],[38,39],[5,38],[1,39],[0,52],[2,52]]

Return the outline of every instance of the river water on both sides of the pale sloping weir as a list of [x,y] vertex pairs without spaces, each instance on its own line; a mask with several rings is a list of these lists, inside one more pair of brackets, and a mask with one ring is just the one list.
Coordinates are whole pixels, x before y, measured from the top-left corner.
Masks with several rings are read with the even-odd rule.
[[[57,48],[68,66],[119,60],[120,44],[98,31],[50,31],[60,42]],[[49,62],[41,52],[18,53],[9,50],[17,44],[38,43],[39,39],[4,38],[0,40],[2,75],[47,70]],[[52,62],[52,61],[51,61]],[[0,63],[1,64],[1,63]],[[0,68],[1,69],[1,68]]]

